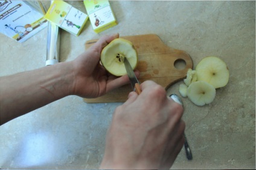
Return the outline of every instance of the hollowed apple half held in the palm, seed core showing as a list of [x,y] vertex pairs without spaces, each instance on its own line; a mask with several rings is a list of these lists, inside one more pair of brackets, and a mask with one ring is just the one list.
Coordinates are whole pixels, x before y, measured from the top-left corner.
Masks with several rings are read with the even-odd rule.
[[128,40],[116,38],[103,48],[100,61],[109,73],[115,76],[123,76],[127,74],[124,58],[127,58],[134,70],[138,64],[138,55],[135,47]]

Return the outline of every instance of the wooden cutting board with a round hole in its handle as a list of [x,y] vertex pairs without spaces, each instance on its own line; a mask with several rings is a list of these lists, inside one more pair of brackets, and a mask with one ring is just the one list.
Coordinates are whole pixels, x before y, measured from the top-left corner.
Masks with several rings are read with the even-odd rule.
[[[139,82],[153,80],[167,90],[170,85],[184,79],[188,68],[193,68],[193,61],[187,52],[166,46],[156,34],[120,37],[129,40],[138,52]],[[97,40],[86,41],[88,49]],[[180,68],[183,67],[183,68]],[[132,91],[129,84],[110,91],[95,99],[84,99],[86,103],[125,102]]]

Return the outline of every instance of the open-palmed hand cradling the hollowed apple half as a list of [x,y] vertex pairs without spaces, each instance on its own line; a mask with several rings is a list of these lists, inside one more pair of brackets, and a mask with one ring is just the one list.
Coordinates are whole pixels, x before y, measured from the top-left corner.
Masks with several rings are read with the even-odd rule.
[[[118,37],[119,34],[101,37],[97,43],[73,61],[74,83],[71,87],[72,94],[94,98],[129,83],[127,75],[116,77],[108,73],[103,65],[100,64],[101,50],[110,41]],[[139,76],[139,71],[136,70],[135,74]]]

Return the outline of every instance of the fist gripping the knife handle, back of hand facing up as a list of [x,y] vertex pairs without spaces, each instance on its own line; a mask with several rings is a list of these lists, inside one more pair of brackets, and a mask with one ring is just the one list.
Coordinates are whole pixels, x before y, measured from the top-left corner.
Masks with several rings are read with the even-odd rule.
[[100,169],[167,169],[184,145],[182,106],[155,82],[140,87],[114,112]]

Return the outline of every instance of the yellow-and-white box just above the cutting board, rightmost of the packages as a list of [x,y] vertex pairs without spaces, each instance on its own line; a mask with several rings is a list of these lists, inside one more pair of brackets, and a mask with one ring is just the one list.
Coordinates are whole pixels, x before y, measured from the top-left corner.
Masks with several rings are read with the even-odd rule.
[[117,20],[107,0],[84,0],[86,11],[95,32],[117,25]]

